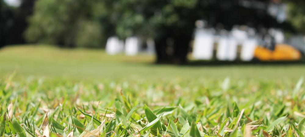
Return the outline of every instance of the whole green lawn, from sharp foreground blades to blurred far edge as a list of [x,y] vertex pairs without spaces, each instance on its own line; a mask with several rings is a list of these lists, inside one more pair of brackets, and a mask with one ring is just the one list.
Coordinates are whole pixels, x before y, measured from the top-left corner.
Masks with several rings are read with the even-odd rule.
[[303,65],[152,61],[1,49],[0,136],[304,136]]

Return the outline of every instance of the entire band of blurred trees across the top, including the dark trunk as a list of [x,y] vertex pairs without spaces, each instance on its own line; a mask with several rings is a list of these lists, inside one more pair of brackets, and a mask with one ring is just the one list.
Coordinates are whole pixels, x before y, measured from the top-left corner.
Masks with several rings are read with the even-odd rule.
[[[304,1],[282,1],[288,19],[278,23],[266,5],[278,0],[22,0],[11,7],[0,0],[0,46],[44,43],[61,47],[103,48],[108,37],[153,38],[158,62],[185,62],[198,19],[210,27],[230,30],[234,25],[277,27],[305,32]],[[253,2],[261,8],[251,6]],[[168,52],[171,49],[171,52]]]

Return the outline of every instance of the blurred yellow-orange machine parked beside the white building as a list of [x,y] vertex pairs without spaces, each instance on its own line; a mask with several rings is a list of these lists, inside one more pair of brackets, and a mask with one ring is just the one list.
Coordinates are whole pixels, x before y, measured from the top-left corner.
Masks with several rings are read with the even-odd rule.
[[302,58],[299,50],[287,44],[276,44],[274,50],[257,46],[254,57],[260,61],[297,61]]

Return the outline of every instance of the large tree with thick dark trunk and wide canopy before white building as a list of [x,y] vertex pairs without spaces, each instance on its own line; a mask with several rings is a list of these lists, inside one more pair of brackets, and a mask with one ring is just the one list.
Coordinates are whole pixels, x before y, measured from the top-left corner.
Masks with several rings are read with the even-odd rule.
[[[256,2],[256,1],[251,1]],[[266,1],[259,1],[265,5]],[[236,24],[260,27],[285,26],[267,14],[267,8],[242,6],[239,0],[114,0],[111,19],[122,37],[153,37],[157,63],[185,63],[195,21],[208,20],[230,30]],[[287,26],[287,25],[286,25]],[[288,25],[289,26],[289,25]]]

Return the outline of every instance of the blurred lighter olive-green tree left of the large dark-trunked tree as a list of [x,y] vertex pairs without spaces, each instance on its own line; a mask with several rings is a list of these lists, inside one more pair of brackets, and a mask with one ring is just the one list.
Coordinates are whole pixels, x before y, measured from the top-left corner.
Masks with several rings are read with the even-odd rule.
[[26,39],[62,47],[102,47],[107,33],[98,20],[104,6],[97,0],[39,0]]

